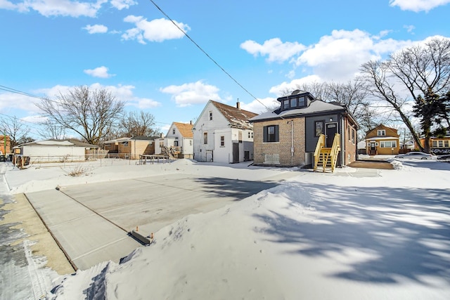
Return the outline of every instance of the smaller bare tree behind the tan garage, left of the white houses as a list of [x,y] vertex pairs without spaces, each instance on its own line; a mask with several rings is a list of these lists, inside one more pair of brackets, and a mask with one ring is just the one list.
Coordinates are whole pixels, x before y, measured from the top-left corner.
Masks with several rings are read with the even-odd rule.
[[129,112],[120,120],[120,133],[123,136],[154,136],[160,133],[155,127],[155,117],[149,112]]

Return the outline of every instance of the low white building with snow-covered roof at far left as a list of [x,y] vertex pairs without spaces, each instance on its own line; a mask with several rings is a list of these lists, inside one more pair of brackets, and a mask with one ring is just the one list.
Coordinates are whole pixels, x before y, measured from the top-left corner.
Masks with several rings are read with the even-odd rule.
[[13,148],[15,162],[28,163],[84,162],[98,146],[72,140],[46,140],[24,143]]

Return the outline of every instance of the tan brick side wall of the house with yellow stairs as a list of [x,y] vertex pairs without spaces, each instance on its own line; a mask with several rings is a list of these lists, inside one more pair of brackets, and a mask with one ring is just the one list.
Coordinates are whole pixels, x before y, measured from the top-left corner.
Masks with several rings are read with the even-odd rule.
[[[291,124],[293,122],[293,124]],[[264,126],[278,125],[279,141],[263,143]],[[294,132],[294,155],[292,157],[292,129]],[[253,147],[255,164],[264,164],[264,155],[280,155],[280,166],[298,166],[304,164],[304,118],[279,119],[274,121],[256,122],[253,124]]]

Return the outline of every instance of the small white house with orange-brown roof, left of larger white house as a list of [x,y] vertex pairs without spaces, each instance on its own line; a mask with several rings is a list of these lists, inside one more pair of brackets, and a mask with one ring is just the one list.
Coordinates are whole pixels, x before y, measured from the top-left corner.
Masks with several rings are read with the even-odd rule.
[[176,158],[193,158],[193,124],[173,122],[165,138],[155,141],[155,154],[167,154]]

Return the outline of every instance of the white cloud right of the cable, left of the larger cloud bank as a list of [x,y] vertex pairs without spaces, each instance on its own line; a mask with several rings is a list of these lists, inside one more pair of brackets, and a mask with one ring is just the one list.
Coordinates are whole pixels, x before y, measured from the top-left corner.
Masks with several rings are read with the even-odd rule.
[[253,56],[269,56],[267,58],[269,62],[278,61],[282,63],[304,51],[306,47],[297,42],[291,43],[288,41],[283,43],[281,39],[274,38],[264,41],[264,44],[258,44],[256,41],[251,40],[244,41],[240,44],[240,48],[243,48]]

